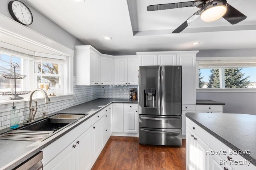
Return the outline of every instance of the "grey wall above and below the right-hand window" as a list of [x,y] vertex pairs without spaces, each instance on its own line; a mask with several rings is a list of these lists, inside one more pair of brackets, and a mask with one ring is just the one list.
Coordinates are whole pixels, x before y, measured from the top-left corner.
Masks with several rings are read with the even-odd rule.
[[[256,57],[256,49],[200,50],[196,57]],[[223,102],[224,113],[256,115],[256,92],[196,92],[196,99]]]

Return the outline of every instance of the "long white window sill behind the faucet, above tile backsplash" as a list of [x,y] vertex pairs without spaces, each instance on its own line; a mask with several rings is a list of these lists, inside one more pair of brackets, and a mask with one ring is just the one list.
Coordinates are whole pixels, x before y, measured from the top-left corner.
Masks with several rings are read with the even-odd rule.
[[[69,99],[73,99],[74,95],[73,94],[62,94],[62,95],[58,95],[58,96],[49,96],[50,98],[50,102],[54,103],[54,102],[59,102],[62,100],[69,100]],[[38,102],[38,106],[45,104],[44,98],[33,98],[33,101],[37,101]],[[24,98],[22,100],[0,100],[0,112],[4,112],[4,111],[10,111],[12,109],[12,105],[16,106],[16,109],[23,109],[26,107],[29,107],[29,98]]]

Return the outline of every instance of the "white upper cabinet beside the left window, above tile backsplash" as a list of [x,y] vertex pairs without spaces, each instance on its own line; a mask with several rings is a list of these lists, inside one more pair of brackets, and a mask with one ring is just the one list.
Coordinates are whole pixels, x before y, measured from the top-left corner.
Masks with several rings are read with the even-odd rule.
[[76,85],[100,84],[100,54],[90,45],[76,45]]

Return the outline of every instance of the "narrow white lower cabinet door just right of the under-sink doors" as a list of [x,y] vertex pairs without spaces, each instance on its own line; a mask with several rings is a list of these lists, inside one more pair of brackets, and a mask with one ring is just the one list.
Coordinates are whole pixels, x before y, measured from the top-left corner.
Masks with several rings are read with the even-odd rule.
[[102,150],[102,119],[92,125],[92,162],[94,162]]

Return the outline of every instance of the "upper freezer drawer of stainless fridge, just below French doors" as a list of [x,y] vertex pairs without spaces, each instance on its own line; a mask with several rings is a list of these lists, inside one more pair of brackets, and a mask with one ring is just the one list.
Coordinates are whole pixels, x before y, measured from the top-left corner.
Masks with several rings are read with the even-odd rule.
[[181,116],[140,115],[140,127],[181,129]]

